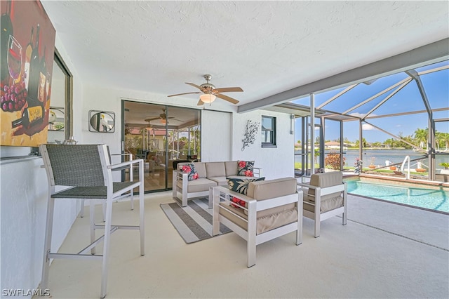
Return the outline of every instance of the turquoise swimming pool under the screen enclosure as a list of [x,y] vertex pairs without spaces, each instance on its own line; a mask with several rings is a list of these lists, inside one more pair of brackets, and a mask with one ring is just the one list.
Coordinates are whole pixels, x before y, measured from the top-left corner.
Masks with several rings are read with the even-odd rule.
[[449,213],[449,190],[439,186],[346,178],[348,193]]

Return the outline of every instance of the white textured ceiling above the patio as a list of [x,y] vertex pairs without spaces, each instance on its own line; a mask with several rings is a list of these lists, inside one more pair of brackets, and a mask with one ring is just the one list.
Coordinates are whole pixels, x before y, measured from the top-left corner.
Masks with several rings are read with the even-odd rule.
[[448,1],[41,2],[81,81],[239,105],[449,36]]

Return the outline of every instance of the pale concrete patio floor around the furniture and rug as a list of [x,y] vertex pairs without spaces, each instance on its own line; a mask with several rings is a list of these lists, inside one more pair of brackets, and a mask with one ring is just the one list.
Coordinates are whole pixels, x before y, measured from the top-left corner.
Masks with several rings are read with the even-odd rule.
[[[293,233],[260,244],[248,269],[246,242],[233,232],[185,244],[159,206],[172,201],[171,192],[145,195],[145,256],[138,232],[112,235],[107,298],[449,297],[449,215],[349,195],[347,225],[330,218],[314,238],[304,218],[300,246]],[[138,204],[114,204],[113,219],[137,222]],[[60,251],[82,248],[81,240],[88,218],[76,220]],[[100,265],[55,260],[51,295],[98,298]]]

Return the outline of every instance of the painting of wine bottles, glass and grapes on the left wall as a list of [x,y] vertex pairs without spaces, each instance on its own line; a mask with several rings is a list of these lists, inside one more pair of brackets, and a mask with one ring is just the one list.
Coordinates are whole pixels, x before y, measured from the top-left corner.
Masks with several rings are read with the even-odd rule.
[[0,145],[46,143],[55,28],[41,2],[1,1]]

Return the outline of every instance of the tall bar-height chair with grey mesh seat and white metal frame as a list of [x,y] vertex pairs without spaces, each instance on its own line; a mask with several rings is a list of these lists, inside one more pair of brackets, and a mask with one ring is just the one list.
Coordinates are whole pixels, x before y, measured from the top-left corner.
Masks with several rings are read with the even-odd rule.
[[[44,240],[44,256],[41,288],[48,286],[48,272],[51,258],[102,260],[102,279],[100,298],[106,295],[107,265],[109,244],[112,232],[118,229],[140,231],[140,255],[145,254],[145,219],[143,160],[136,159],[112,165],[106,145],[41,145],[40,151],[48,178],[47,218]],[[123,166],[138,164],[139,180],[130,182],[112,182],[112,171]],[[112,225],[112,202],[139,188],[139,225]],[[60,190],[60,191],[57,191]],[[86,199],[91,201],[91,244],[79,253],[52,253],[51,236],[53,232],[53,213],[55,199]],[[105,225],[95,225],[93,202],[106,203]],[[95,239],[95,230],[104,229],[105,233]],[[102,254],[95,254],[95,246],[103,241]],[[91,253],[88,253],[91,251]]]

